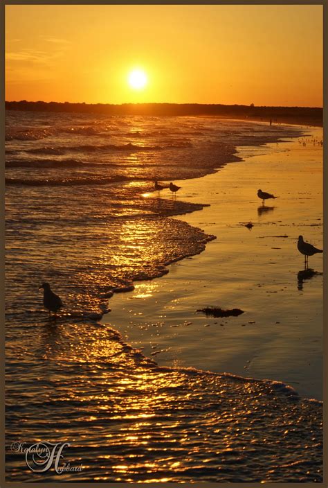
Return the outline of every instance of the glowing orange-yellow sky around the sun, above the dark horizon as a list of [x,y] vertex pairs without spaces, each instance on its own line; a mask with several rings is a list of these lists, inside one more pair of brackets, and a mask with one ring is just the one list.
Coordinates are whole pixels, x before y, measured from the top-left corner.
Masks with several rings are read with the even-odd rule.
[[322,6],[6,6],[6,100],[24,99],[322,107]]

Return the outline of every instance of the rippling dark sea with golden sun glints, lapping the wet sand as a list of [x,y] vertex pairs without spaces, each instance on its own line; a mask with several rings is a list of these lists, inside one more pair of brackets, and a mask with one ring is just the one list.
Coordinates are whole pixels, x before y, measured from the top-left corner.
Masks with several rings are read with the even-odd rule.
[[[96,322],[113,290],[164,275],[215,234],[171,218],[201,215],[207,190],[161,200],[153,180],[214,173],[239,161],[235,146],[300,130],[28,112],[6,123],[7,479],[320,481],[321,403],[284,383],[159,367]],[[42,281],[64,301],[57,322]],[[12,443],[40,441],[71,442],[65,460],[82,471],[32,473]]]

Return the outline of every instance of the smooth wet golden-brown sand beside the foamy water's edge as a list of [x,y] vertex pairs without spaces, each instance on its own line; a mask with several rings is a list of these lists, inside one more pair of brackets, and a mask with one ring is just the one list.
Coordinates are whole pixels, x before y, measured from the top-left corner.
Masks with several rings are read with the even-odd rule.
[[[304,275],[296,247],[299,234],[322,247],[322,146],[312,136],[322,139],[322,130],[309,130],[306,146],[295,139],[239,148],[245,161],[177,181],[177,200],[210,207],[176,218],[217,239],[165,277],[114,295],[102,322],[159,365],[284,381],[321,399],[322,254],[310,256],[313,272]],[[262,207],[259,188],[279,198]],[[197,313],[207,306],[244,313]]]

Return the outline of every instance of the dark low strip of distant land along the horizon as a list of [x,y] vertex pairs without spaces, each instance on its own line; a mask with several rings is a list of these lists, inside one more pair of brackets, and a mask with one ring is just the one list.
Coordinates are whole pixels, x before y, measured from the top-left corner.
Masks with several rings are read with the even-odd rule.
[[312,125],[322,127],[321,107],[257,107],[252,105],[221,105],[199,103],[59,103],[59,102],[6,102],[6,110],[30,112],[76,112],[117,116],[210,116],[273,124]]

